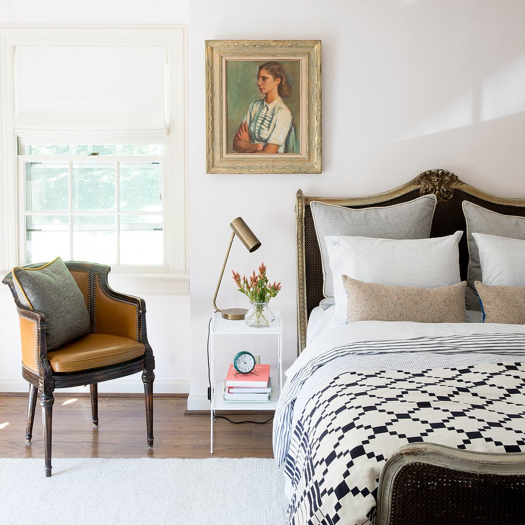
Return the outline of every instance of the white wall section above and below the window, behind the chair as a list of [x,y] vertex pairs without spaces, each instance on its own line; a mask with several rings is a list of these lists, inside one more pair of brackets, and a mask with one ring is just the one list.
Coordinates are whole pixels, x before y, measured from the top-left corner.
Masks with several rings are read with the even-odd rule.
[[[187,0],[0,0],[0,25],[178,25],[188,23]],[[1,91],[1,89],[0,89]],[[16,232],[13,232],[16,235]],[[111,274],[109,280],[111,283]],[[136,293],[133,287],[118,291]],[[142,295],[146,301],[148,339],[155,354],[155,392],[188,392],[190,388],[190,297]],[[20,335],[13,299],[0,286],[0,334],[2,334],[0,392],[27,391],[20,374]],[[74,390],[86,390],[79,387]],[[99,385],[99,392],[141,392],[140,375]]]

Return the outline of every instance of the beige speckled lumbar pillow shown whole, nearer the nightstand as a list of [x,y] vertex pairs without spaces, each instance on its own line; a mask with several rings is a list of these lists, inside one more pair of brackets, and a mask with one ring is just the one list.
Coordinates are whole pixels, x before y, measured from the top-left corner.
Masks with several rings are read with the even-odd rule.
[[464,323],[466,281],[439,288],[377,285],[343,275],[346,320]]

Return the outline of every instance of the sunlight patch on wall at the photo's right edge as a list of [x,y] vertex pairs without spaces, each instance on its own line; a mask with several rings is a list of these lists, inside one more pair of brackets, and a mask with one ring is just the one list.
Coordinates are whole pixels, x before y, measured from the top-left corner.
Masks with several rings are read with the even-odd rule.
[[481,120],[525,111],[525,53],[484,80]]

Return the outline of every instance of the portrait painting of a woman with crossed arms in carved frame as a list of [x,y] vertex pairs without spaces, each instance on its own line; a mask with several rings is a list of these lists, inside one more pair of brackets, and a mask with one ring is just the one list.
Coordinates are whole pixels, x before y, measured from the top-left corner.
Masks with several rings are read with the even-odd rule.
[[206,172],[321,173],[320,40],[206,40]]

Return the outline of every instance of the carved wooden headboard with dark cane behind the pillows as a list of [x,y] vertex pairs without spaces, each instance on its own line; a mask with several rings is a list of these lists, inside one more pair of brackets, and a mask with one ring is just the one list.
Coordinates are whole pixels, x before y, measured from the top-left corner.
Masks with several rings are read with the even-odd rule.
[[[446,170],[427,170],[412,181],[394,190],[366,197],[313,197],[296,196],[297,233],[297,348],[298,354],[306,346],[306,328],[310,313],[323,298],[321,254],[313,225],[310,202],[320,201],[348,208],[391,206],[411,201],[421,195],[433,193],[437,206],[432,221],[430,237],[451,235],[457,230],[466,232],[465,217],[461,203],[472,203],[505,215],[525,216],[525,199],[505,198],[491,195],[461,182],[454,173]],[[467,277],[468,249],[464,233],[459,243],[461,278]]]

